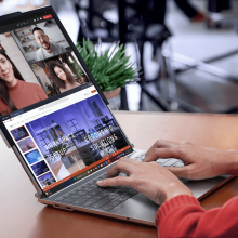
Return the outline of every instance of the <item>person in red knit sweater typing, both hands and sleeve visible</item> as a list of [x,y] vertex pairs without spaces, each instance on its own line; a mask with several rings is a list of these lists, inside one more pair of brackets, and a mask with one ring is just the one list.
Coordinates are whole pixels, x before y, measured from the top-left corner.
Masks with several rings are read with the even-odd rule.
[[[162,168],[158,158],[177,158],[184,167]],[[117,176],[124,172],[128,176]],[[161,204],[156,215],[159,237],[238,237],[238,196],[206,211],[177,177],[204,180],[238,174],[238,150],[220,150],[188,142],[159,140],[143,162],[120,158],[98,186],[131,186]]]

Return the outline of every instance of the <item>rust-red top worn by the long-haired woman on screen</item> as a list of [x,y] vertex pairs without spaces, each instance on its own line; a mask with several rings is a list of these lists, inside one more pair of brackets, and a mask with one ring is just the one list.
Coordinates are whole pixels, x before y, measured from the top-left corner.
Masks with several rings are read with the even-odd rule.
[[[16,85],[9,88],[9,94],[17,109],[48,98],[39,84],[22,80],[17,80]],[[6,114],[9,114],[10,108],[0,97],[0,114],[3,111],[8,111]]]

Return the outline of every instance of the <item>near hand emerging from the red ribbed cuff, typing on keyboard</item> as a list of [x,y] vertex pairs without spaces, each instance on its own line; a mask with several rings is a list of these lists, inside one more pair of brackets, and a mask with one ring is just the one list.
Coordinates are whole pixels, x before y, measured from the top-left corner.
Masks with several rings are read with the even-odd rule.
[[[120,172],[128,176],[117,176]],[[173,173],[157,162],[137,162],[128,158],[120,158],[108,171],[106,178],[97,181],[98,186],[131,186],[158,204],[177,195],[191,195]]]

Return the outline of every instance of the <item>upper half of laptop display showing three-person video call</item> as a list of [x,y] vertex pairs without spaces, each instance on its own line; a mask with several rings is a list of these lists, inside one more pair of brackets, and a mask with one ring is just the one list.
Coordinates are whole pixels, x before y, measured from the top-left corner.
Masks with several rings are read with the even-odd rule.
[[90,82],[51,14],[16,25],[0,34],[0,116]]

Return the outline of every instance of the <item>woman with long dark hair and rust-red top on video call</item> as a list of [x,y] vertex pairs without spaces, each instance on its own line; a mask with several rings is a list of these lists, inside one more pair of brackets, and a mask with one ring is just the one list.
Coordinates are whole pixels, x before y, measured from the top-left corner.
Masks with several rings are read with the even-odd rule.
[[0,50],[0,114],[9,114],[48,98],[37,83],[25,82],[18,69]]

